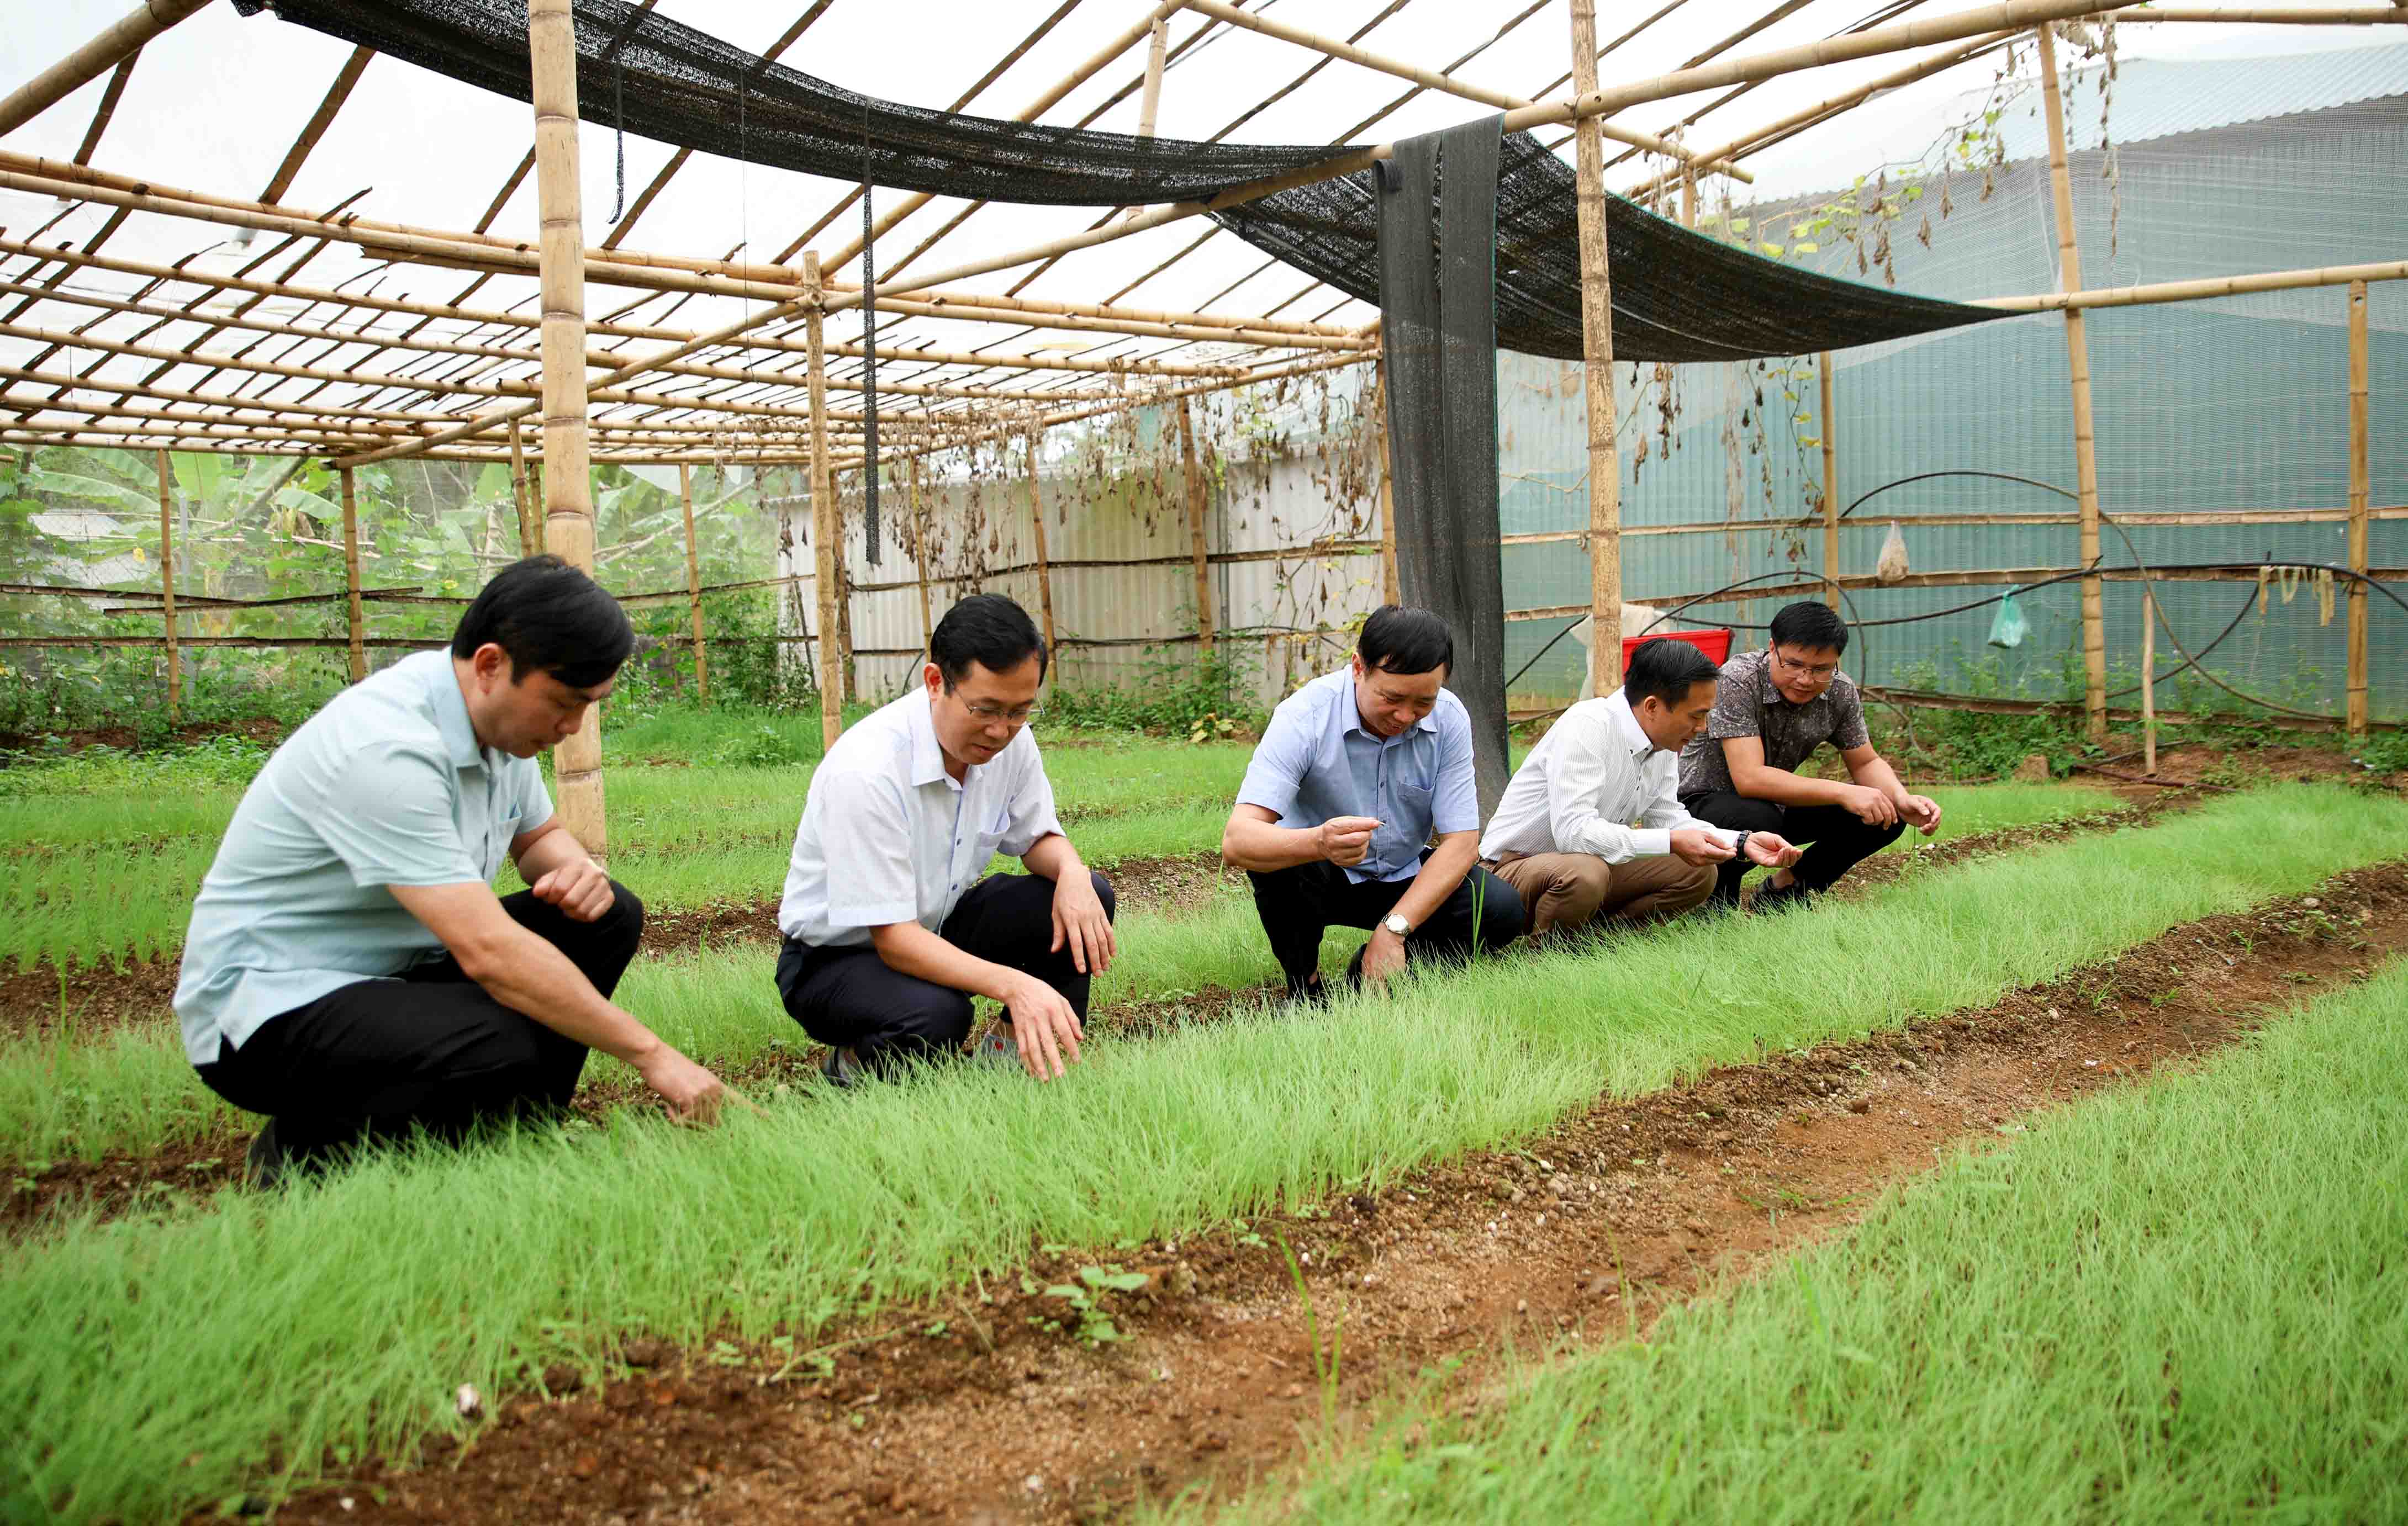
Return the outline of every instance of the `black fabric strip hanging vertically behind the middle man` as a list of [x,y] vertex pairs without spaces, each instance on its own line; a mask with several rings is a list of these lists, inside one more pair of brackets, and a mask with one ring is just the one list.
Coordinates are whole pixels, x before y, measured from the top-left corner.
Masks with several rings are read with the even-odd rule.
[[1454,631],[1481,818],[1505,794],[1495,207],[1503,118],[1409,137],[1380,188],[1397,585]]

